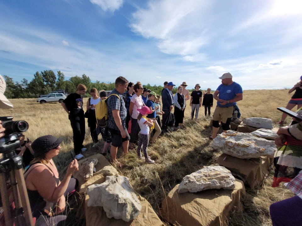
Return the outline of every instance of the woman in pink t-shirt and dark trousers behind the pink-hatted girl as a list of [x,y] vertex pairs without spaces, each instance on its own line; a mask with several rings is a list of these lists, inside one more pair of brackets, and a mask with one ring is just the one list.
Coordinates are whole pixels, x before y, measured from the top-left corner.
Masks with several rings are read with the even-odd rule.
[[143,93],[143,85],[137,82],[134,87],[134,95],[131,97],[129,114],[131,115],[131,136],[130,136],[130,149],[135,148],[137,141],[137,135],[139,132],[139,125],[137,123],[137,116],[139,114],[137,109],[141,109],[145,106],[141,94]]

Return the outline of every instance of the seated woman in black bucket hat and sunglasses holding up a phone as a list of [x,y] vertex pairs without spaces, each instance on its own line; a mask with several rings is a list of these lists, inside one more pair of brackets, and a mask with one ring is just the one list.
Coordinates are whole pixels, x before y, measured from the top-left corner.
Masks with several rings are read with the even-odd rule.
[[77,187],[77,180],[71,176],[79,165],[76,159],[72,160],[64,179],[59,180],[52,158],[59,154],[61,142],[61,138],[47,135],[37,138],[31,144],[34,159],[25,171],[24,178],[32,216],[36,218],[35,225],[68,224],[67,216],[61,213],[66,207],[65,197]]

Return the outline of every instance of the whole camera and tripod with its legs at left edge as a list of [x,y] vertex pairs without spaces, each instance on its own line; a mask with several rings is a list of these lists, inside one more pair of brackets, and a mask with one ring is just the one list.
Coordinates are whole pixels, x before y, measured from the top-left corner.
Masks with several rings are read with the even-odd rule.
[[[13,121],[12,116],[0,117],[2,127],[5,128],[4,137],[0,138],[0,193],[3,203],[5,225],[33,226],[31,207],[22,171],[22,158],[16,155],[16,148],[20,147],[19,137],[28,129],[26,121]],[[9,186],[7,179],[9,178]],[[14,212],[11,213],[9,189],[14,200]]]

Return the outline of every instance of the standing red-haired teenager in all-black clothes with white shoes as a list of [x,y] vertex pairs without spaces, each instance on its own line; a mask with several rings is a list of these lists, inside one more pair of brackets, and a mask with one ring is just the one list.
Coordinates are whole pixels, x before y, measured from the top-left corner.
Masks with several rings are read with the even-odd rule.
[[61,103],[64,110],[68,113],[71,128],[73,131],[73,145],[76,159],[84,157],[81,151],[86,151],[83,142],[85,138],[85,117],[83,111],[83,96],[86,93],[86,86],[79,84],[76,92],[67,96]]

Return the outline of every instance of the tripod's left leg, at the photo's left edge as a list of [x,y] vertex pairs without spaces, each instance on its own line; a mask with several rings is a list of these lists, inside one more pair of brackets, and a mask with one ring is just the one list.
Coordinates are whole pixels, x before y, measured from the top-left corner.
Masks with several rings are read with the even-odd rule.
[[0,191],[1,191],[3,209],[4,209],[4,218],[5,218],[5,224],[7,226],[13,226],[13,218],[10,212],[9,196],[6,189],[5,175],[6,175],[5,173],[0,173]]

